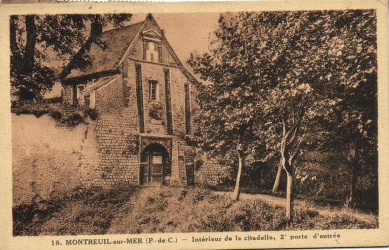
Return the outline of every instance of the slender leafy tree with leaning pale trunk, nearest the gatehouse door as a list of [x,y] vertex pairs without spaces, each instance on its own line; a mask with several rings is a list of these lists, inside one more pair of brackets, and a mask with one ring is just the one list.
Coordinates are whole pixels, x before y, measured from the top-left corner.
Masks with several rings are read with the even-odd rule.
[[258,77],[251,74],[255,65],[245,61],[244,52],[237,49],[248,40],[239,35],[239,23],[230,26],[225,16],[230,17],[220,17],[211,41],[217,46],[202,56],[191,54],[188,63],[201,79],[212,82],[198,87],[198,145],[213,154],[231,156],[232,162],[237,159],[233,198],[238,200],[245,158],[255,151],[255,119],[260,117],[256,101],[262,90],[254,84]]

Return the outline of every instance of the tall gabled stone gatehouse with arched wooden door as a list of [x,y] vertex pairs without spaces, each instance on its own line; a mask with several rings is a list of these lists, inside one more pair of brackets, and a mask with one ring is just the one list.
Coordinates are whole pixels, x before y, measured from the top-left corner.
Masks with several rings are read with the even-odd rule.
[[93,125],[99,163],[85,179],[104,187],[216,184],[225,167],[205,159],[196,168],[194,148],[185,141],[195,127],[196,79],[155,19],[149,14],[130,26],[101,28],[105,45],[92,43],[88,66],[81,71],[71,62],[61,79],[64,103],[100,114]]

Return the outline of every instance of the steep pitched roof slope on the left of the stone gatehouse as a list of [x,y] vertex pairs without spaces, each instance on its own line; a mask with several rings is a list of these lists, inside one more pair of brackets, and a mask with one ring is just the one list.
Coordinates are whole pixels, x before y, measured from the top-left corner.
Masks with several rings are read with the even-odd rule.
[[78,77],[96,72],[114,69],[124,56],[128,46],[136,37],[144,22],[132,24],[122,28],[108,30],[102,33],[102,41],[106,43],[106,49],[93,43],[88,55],[91,64],[83,71],[71,70],[65,78]]

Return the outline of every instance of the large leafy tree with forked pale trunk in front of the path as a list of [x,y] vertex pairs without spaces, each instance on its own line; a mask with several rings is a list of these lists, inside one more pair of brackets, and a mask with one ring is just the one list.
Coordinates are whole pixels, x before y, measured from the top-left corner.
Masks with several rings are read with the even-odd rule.
[[[375,13],[372,10],[294,12],[288,13],[278,28],[273,29],[272,34],[282,37],[280,40],[286,38],[284,47],[276,55],[275,63],[280,68],[268,73],[277,74],[280,81],[264,96],[267,105],[263,107],[265,113],[273,117],[270,125],[279,124],[281,130],[279,147],[287,175],[286,217],[291,219],[295,160],[307,137],[316,133],[317,138],[325,141],[320,135],[328,129],[333,138],[362,135],[358,126],[374,119]],[[278,45],[281,44],[272,46],[273,49],[280,49]],[[359,85],[360,89],[355,91]],[[355,98],[358,95],[360,97]],[[361,102],[365,108],[357,108]],[[323,131],[321,125],[335,107],[337,122],[341,123],[337,128],[327,127]],[[352,121],[348,121],[348,115],[353,113],[358,114],[351,115]],[[346,127],[352,132],[344,134]],[[360,144],[354,145],[354,152],[359,152]],[[358,153],[354,153],[353,160],[359,160]]]

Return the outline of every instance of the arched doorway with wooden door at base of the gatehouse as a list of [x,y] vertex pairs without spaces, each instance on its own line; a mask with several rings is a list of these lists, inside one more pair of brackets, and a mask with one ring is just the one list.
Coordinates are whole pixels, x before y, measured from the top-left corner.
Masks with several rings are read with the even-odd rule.
[[153,143],[141,154],[140,183],[144,187],[155,187],[170,181],[171,166],[169,154],[164,146]]

